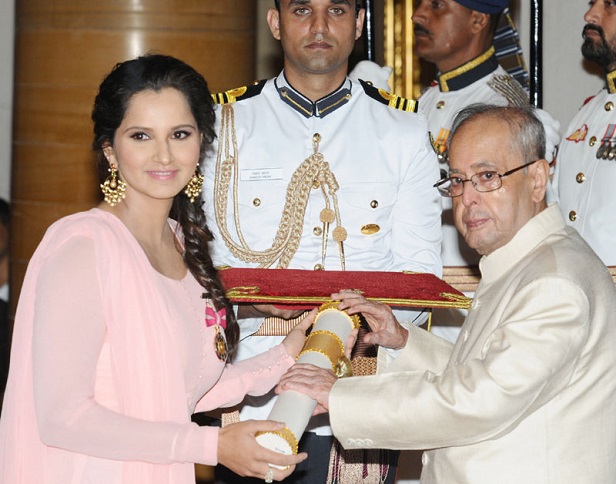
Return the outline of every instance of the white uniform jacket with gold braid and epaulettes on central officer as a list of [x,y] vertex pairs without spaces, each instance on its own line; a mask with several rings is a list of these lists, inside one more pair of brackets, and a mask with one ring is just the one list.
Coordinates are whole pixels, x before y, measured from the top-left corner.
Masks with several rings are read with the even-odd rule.
[[[346,78],[313,103],[284,72],[216,100],[227,104],[204,173],[215,265],[441,275],[438,164],[414,101]],[[239,359],[282,338],[247,338],[262,322],[240,320]],[[269,398],[242,420],[267,418]]]

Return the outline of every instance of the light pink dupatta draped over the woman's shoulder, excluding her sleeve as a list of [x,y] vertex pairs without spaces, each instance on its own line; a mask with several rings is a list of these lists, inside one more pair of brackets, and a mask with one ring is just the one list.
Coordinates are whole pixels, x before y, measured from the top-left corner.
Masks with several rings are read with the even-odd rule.
[[[77,484],[91,457],[44,445],[32,389],[32,326],[37,277],[46,258],[73,236],[94,241],[112,372],[121,412],[144,420],[188,423],[186,389],[164,288],[122,222],[98,209],[54,223],[32,257],[21,290],[11,369],[0,420],[0,482]],[[58,284],[62,284],[59,280]],[[75,295],[79,300],[79,295]],[[145,375],[145,377],[144,377]],[[148,376],[156,375],[156,378]],[[194,484],[192,463],[113,461],[120,483]],[[105,484],[112,484],[106,480]],[[113,484],[116,484],[115,482]],[[119,483],[117,483],[119,484]]]

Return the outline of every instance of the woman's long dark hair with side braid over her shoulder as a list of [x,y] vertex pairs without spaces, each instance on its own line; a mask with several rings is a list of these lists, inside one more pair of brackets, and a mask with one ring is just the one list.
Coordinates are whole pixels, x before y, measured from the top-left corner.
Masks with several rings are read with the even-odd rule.
[[[216,114],[207,82],[195,69],[179,59],[159,54],[145,55],[116,64],[101,83],[94,101],[92,147],[97,154],[101,181],[108,175],[109,168],[103,150],[113,145],[131,99],[142,92],[158,93],[169,88],[180,92],[188,103],[201,136],[199,159],[203,159],[205,150],[216,137]],[[227,310],[225,336],[229,343],[229,356],[232,357],[239,340],[239,327],[208,251],[213,235],[206,225],[202,204],[201,194],[192,203],[181,191],[173,199],[170,217],[182,228],[183,257],[188,270],[208,293],[215,308]]]

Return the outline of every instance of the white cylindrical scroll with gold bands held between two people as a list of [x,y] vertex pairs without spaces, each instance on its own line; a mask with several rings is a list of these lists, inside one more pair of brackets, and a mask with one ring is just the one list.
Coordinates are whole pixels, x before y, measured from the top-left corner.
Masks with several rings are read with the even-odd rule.
[[[351,331],[359,328],[359,316],[349,316],[345,311],[340,311],[338,304],[339,301],[332,301],[321,305],[297,363],[310,363],[337,374],[344,365],[350,369],[350,363],[344,356],[345,343]],[[259,432],[257,442],[282,454],[297,454],[299,439],[316,406],[317,402],[303,393],[282,392],[268,419],[284,422],[286,426],[278,432]]]

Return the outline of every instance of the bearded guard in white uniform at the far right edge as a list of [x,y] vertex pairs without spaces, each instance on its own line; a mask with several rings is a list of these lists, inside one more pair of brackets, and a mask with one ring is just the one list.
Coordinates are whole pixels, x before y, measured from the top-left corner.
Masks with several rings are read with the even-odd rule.
[[605,87],[586,99],[565,131],[554,185],[567,223],[604,264],[616,266],[616,6],[590,2],[584,22],[582,55],[603,69]]

